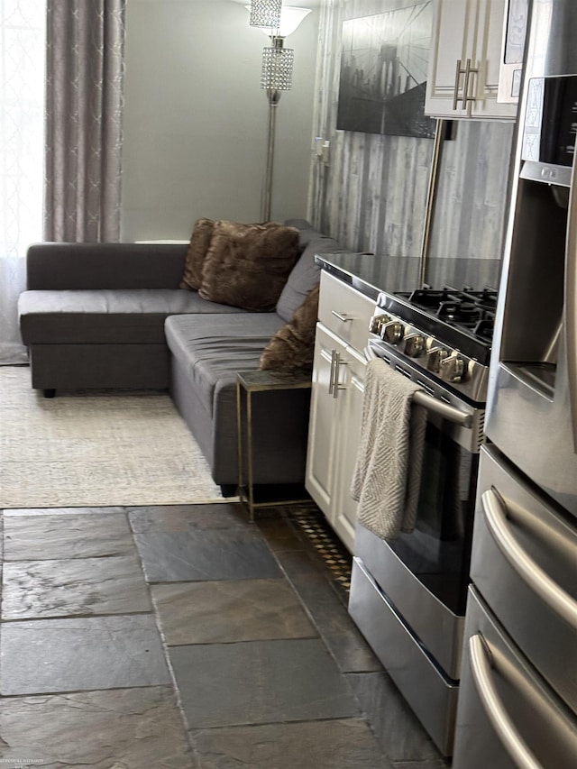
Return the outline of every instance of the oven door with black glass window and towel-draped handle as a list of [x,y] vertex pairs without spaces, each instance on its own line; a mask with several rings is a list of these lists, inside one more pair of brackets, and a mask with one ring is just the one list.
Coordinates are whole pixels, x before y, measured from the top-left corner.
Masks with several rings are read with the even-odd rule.
[[426,390],[419,400],[427,408],[426,444],[413,532],[386,542],[358,525],[354,552],[419,642],[458,679],[483,411],[375,348]]

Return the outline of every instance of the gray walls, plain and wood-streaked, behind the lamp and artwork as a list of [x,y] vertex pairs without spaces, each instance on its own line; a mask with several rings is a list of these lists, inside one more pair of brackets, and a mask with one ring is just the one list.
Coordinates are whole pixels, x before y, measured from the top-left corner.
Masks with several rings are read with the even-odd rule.
[[[306,216],[354,251],[415,257],[433,142],[335,129],[343,20],[393,2],[405,0],[323,0],[286,41],[295,75],[278,107],[272,218]],[[188,239],[199,216],[260,219],[266,44],[241,0],[128,0],[124,240]],[[331,142],[328,166],[314,136]],[[500,259],[512,138],[513,124],[459,122],[444,142],[429,260]]]

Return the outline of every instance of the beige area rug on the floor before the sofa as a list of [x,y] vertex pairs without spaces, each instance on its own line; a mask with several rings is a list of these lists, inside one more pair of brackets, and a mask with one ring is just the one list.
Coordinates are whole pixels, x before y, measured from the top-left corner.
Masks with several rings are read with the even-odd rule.
[[0,508],[223,501],[169,396],[43,398],[27,367],[0,367]]

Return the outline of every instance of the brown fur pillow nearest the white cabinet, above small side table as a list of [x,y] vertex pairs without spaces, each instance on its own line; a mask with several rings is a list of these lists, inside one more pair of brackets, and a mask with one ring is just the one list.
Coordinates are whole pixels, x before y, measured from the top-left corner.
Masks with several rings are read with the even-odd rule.
[[279,328],[261,354],[259,368],[270,371],[313,371],[319,287],[313,288],[293,319]]

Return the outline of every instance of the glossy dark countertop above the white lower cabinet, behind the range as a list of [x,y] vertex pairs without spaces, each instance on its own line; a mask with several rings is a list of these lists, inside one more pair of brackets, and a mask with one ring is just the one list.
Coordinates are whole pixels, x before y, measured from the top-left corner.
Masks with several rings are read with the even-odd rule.
[[[394,293],[421,288],[418,257],[343,252],[316,254],[315,261],[371,299],[376,299],[380,291]],[[498,288],[499,273],[498,259],[435,258],[426,262],[426,283],[433,288]]]

